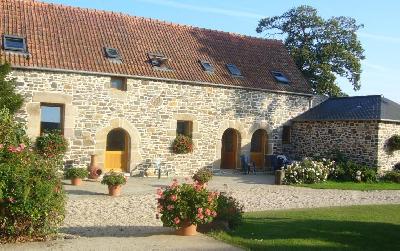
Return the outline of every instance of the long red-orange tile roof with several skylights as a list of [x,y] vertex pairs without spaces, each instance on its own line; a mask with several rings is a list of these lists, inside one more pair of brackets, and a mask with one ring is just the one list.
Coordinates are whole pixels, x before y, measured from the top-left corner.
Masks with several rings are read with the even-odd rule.
[[[0,1],[0,33],[23,36],[29,57],[0,50],[0,62],[35,67],[148,76],[274,91],[311,93],[285,46],[278,40],[177,25],[121,13],[42,3]],[[117,48],[122,63],[104,56]],[[155,70],[148,53],[163,53],[172,71]],[[204,72],[209,61],[214,73]],[[226,64],[244,77],[232,77]],[[271,71],[286,74],[290,85],[278,83]]]

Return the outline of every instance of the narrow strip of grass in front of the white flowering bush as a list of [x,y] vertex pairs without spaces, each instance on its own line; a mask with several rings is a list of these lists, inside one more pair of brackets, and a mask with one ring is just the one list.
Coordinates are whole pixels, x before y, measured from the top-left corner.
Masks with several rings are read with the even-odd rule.
[[316,184],[300,184],[295,186],[309,187],[315,189],[341,189],[341,190],[400,190],[400,183],[377,182],[377,183],[356,183],[325,181]]

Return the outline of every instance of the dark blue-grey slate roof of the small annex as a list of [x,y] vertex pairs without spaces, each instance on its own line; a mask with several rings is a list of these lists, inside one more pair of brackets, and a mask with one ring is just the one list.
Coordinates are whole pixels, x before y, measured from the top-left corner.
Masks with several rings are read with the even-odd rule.
[[399,121],[400,104],[380,95],[329,98],[292,121]]

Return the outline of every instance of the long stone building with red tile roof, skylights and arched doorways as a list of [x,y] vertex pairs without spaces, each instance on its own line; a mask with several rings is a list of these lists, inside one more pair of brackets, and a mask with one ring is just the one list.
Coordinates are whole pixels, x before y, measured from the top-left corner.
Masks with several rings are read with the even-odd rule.
[[[290,120],[320,102],[277,40],[32,0],[1,0],[0,32],[19,118],[32,138],[60,129],[68,166],[96,154],[105,170],[161,159],[185,175],[249,154],[264,168],[268,154],[295,152]],[[178,133],[192,153],[172,153]]]

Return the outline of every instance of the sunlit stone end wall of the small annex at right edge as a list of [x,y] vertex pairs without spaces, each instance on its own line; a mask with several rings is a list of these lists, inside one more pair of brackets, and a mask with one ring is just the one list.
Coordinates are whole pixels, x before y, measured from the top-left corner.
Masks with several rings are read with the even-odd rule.
[[390,152],[386,147],[387,140],[395,134],[400,135],[400,123],[379,123],[378,166],[384,170],[390,170],[395,164],[400,163],[400,151]]

